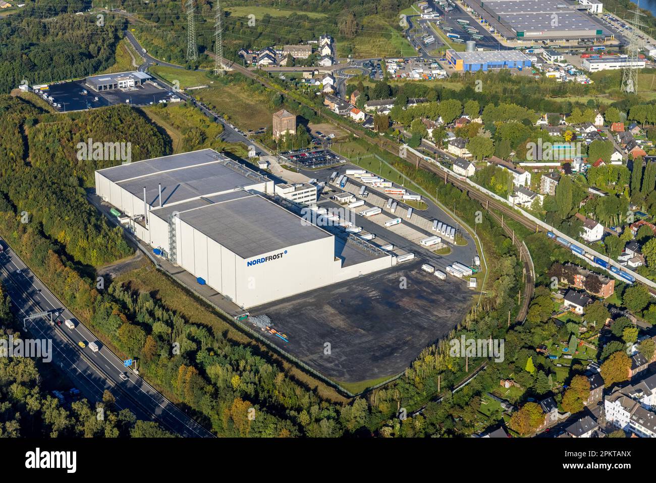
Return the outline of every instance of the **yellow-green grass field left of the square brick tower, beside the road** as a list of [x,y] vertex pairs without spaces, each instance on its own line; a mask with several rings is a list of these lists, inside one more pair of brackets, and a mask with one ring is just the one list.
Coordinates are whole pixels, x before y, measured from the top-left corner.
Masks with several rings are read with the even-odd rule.
[[195,92],[195,96],[240,129],[259,129],[272,125],[271,115],[274,110],[269,107],[268,97],[253,91],[244,83],[201,89]]

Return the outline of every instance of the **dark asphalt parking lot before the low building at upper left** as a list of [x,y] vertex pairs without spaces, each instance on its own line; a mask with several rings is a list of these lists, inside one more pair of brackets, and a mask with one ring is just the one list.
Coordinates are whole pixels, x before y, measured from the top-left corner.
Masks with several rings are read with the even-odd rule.
[[173,93],[151,82],[131,89],[97,93],[87,86],[84,80],[51,84],[48,89],[37,89],[35,93],[59,112],[94,109],[114,104],[146,106],[157,104],[160,100],[168,102],[173,97]]

